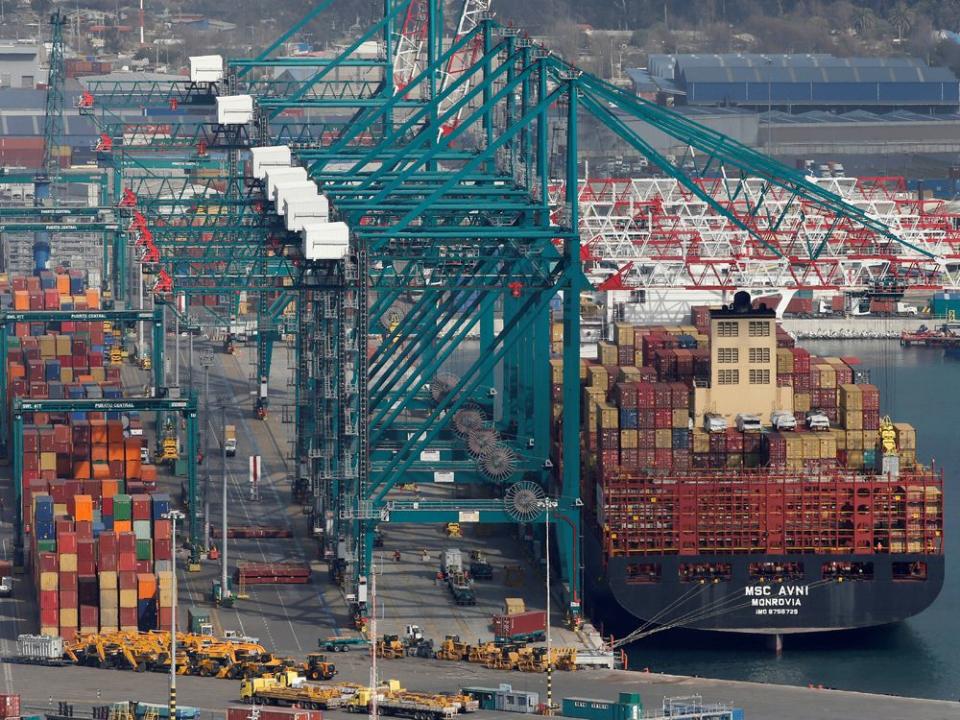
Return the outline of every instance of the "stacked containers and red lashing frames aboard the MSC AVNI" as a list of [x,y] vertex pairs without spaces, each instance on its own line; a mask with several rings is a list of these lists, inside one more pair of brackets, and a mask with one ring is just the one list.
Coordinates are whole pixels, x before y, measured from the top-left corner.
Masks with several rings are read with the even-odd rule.
[[[694,308],[693,326],[615,329],[580,371],[581,492],[608,554],[939,547],[941,478],[917,465],[906,423],[887,446],[902,474],[878,474],[879,391],[855,383],[854,359],[813,357],[778,328],[777,383],[793,388],[798,429],[708,433],[692,427],[690,397],[710,377],[709,310]],[[563,367],[552,363],[556,402]],[[830,431],[803,429],[812,409]],[[554,438],[562,417],[555,408]]]

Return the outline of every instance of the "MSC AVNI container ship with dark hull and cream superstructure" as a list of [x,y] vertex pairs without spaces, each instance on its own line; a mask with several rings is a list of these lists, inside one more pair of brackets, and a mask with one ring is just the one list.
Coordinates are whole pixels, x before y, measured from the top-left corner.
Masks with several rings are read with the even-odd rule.
[[913,427],[881,417],[856,359],[796,347],[747,293],[691,321],[615,324],[581,361],[591,612],[782,635],[930,605],[943,474],[918,462]]

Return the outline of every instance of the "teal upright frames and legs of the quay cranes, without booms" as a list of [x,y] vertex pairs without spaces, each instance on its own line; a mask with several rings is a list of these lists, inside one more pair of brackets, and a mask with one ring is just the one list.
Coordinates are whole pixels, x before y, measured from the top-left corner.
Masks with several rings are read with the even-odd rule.
[[[394,12],[388,8],[373,32],[389,33]],[[477,63],[444,93],[425,90],[469,43],[484,50]],[[487,21],[446,52],[431,49],[402,96],[385,82],[379,97],[358,101],[336,142],[297,152],[351,228],[351,253],[333,287],[312,291],[298,307],[297,452],[327,551],[355,580],[370,571],[378,522],[511,521],[504,501],[489,495],[533,480],[559,500],[563,585],[569,611],[579,613],[583,276],[574,198],[565,213],[573,224],[556,227],[548,193],[556,132],[567,148],[563,175],[576,176],[578,78],[516,31]],[[308,84],[288,100],[262,104],[296,106]],[[462,121],[438,142],[442,125],[458,114]],[[356,143],[370,128],[374,142]],[[549,306],[560,291],[567,369],[557,400],[568,414],[551,449],[545,369]],[[371,337],[381,342],[368,357]],[[467,349],[471,337],[476,346]],[[450,375],[455,361],[460,370]],[[479,460],[456,431],[461,410],[493,436],[490,447],[475,448]],[[554,473],[550,459],[559,460],[561,446]],[[422,506],[392,492],[435,481],[438,468],[492,489]]]

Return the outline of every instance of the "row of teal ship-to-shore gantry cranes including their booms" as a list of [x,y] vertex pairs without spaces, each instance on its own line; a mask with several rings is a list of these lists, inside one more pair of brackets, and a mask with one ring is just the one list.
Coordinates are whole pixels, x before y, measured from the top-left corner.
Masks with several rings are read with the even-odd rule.
[[[381,522],[538,524],[554,502],[550,531],[566,608],[576,616],[579,294],[595,209],[587,205],[585,217],[581,207],[581,124],[644,154],[760,258],[794,262],[776,236],[791,207],[835,219],[800,242],[811,260],[841,232],[888,248],[910,241],[833,188],[580,71],[481,12],[440,42],[438,1],[416,2],[426,10],[416,15],[426,57],[418,53],[399,76],[395,28],[410,15],[409,0],[385,3],[382,18],[337,57],[316,61],[306,78],[271,78],[268,70],[304,64],[271,55],[321,3],[257,57],[228,61],[222,81],[104,85],[91,88],[94,107],[104,108],[102,122],[115,123],[108,108],[124,103],[213,106],[248,96],[253,111],[243,129],[205,119],[154,140],[180,152],[198,138],[230,138],[207,152],[287,145],[329,201],[330,220],[348,225],[343,257],[309,257],[306,231],[280,222],[265,178],[241,175],[235,159],[225,184],[197,199],[188,221],[149,181],[136,191],[167,272],[164,290],[256,288],[294,298],[294,479],[309,486],[314,524],[343,577],[364,587]],[[368,41],[381,42],[384,56],[360,57]],[[285,116],[314,109],[324,111],[322,123],[297,126]],[[659,153],[636,123],[669,135],[688,155]],[[711,185],[717,175],[725,180]],[[716,263],[701,264],[713,272]],[[536,369],[547,367],[550,309],[561,296],[563,374],[551,388]],[[564,408],[554,436],[551,401]],[[441,488],[481,482],[492,492],[413,501],[397,489],[411,478]]]

